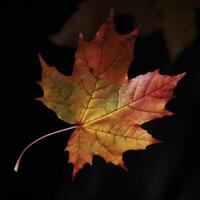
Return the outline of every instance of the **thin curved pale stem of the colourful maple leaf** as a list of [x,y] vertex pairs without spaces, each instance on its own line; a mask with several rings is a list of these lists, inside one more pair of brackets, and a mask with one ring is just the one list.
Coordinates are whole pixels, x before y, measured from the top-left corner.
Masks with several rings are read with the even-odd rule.
[[49,136],[56,135],[56,134],[58,134],[58,133],[63,133],[63,132],[65,132],[65,131],[68,131],[68,130],[71,130],[71,129],[76,129],[76,128],[78,128],[78,126],[72,126],[72,127],[68,127],[68,128],[64,128],[64,129],[58,130],[58,131],[54,131],[54,132],[52,132],[52,133],[48,133],[48,134],[46,134],[46,135],[43,135],[42,137],[39,137],[38,139],[36,139],[36,140],[34,140],[33,142],[31,142],[29,145],[27,145],[27,146],[24,148],[24,150],[21,152],[20,156],[18,157],[17,162],[16,162],[15,167],[14,167],[14,171],[15,171],[15,172],[18,172],[18,170],[19,170],[19,165],[20,165],[20,162],[21,162],[21,159],[22,159],[24,153],[25,153],[31,146],[33,146],[35,143],[37,143],[37,142],[39,142],[40,140],[43,140],[43,139],[45,139],[45,138],[47,138],[47,137],[49,137]]

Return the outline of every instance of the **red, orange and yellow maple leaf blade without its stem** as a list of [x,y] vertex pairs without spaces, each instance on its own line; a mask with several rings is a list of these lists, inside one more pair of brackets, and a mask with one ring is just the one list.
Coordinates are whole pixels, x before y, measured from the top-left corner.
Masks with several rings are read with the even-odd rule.
[[73,176],[92,164],[93,155],[125,168],[125,151],[159,142],[140,125],[172,114],[165,105],[184,73],[154,71],[128,79],[137,32],[118,34],[111,14],[92,41],[80,34],[71,76],[49,67],[40,56],[44,96],[39,100],[63,121],[77,125],[65,149]]

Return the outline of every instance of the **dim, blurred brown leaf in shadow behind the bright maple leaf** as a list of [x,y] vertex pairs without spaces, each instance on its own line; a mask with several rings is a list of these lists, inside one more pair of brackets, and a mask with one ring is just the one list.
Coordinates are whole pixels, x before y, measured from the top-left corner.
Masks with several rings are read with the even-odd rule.
[[80,30],[85,38],[91,38],[110,7],[118,15],[128,14],[136,24],[142,25],[141,36],[162,31],[173,60],[192,45],[197,36],[195,9],[200,8],[198,0],[88,0],[82,1],[77,12],[49,39],[59,46],[75,46]]

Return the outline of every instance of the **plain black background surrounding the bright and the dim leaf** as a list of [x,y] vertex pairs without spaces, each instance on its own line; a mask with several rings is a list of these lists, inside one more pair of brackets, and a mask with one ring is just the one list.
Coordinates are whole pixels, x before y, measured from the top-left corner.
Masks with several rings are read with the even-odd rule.
[[[134,77],[156,68],[163,74],[187,72],[175,90],[176,99],[167,104],[172,117],[143,125],[164,143],[147,151],[124,153],[128,172],[94,157],[72,182],[72,165],[63,152],[70,132],[52,136],[33,146],[24,156],[18,173],[13,171],[20,151],[34,139],[67,126],[35,98],[43,92],[37,81],[40,52],[49,65],[70,74],[75,49],[53,45],[47,35],[57,32],[77,11],[78,1],[42,3],[8,2],[3,19],[1,69],[3,163],[2,199],[76,200],[197,200],[200,189],[198,150],[198,103],[200,86],[200,11],[196,10],[198,35],[175,61],[171,61],[162,31],[136,41],[135,60],[129,75]],[[116,16],[117,30],[127,33],[134,27],[126,15]],[[152,48],[153,47],[153,48]],[[122,119],[123,120],[123,119]],[[4,129],[5,126],[5,129]],[[2,196],[3,196],[2,193]]]

